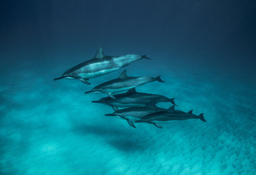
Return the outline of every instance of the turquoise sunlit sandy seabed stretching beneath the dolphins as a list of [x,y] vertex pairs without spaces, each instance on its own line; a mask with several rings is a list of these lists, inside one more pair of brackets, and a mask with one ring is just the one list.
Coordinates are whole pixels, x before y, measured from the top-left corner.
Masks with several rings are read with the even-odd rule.
[[253,88],[209,74],[161,70],[165,83],[137,91],[173,97],[177,109],[204,113],[207,123],[131,128],[104,116],[111,107],[90,103],[103,94],[84,94],[121,71],[92,79],[91,86],[54,82],[64,69],[1,75],[0,174],[256,174]]

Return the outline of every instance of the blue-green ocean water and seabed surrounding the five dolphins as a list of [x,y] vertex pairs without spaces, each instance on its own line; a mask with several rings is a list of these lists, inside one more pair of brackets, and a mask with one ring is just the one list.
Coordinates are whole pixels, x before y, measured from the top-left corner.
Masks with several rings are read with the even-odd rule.
[[[256,1],[1,1],[0,174],[256,174]],[[53,81],[106,55],[139,54],[136,88],[201,120],[163,129],[104,116],[84,94],[115,79]],[[170,103],[159,104],[168,108]]]

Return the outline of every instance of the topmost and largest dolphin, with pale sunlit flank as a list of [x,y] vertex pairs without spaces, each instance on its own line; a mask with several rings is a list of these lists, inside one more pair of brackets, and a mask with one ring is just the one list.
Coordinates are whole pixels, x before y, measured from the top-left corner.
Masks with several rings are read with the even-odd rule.
[[98,77],[104,74],[109,74],[112,71],[128,66],[134,61],[142,58],[147,58],[146,55],[121,55],[121,56],[107,56],[104,55],[103,47],[99,47],[98,52],[93,59],[74,66],[73,68],[64,72],[58,79],[79,79],[87,85],[90,85],[88,80],[93,77]]

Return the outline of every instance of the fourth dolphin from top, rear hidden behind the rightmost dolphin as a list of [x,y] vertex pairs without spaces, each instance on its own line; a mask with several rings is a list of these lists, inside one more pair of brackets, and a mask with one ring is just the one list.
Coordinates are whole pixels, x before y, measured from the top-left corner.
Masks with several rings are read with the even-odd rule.
[[154,112],[163,111],[166,109],[159,108],[155,106],[155,100],[151,101],[146,106],[136,106],[131,108],[125,108],[115,111],[112,114],[105,114],[106,116],[115,116],[120,119],[127,120],[128,124],[131,127],[136,128],[133,124],[134,121],[141,120],[141,117],[144,117],[147,114],[152,114]]

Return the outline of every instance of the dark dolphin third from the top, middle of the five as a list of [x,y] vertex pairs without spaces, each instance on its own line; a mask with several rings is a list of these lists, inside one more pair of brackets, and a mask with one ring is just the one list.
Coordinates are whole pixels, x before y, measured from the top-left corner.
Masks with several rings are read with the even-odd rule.
[[171,102],[174,104],[174,98],[167,98],[165,96],[160,96],[157,94],[150,93],[138,93],[135,88],[128,90],[126,93],[120,93],[115,95],[115,98],[104,97],[99,101],[92,101],[93,103],[106,104],[112,106],[112,108],[117,111],[118,107],[134,107],[134,106],[145,106],[150,103],[150,101],[155,101],[156,104],[159,102]]

